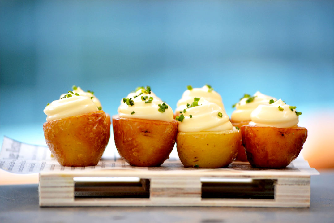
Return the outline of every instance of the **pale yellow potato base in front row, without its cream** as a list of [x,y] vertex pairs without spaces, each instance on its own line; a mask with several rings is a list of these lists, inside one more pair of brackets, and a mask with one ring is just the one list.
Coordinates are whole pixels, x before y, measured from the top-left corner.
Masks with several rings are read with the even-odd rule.
[[185,167],[221,168],[228,166],[237,154],[240,130],[221,132],[179,132],[176,148]]

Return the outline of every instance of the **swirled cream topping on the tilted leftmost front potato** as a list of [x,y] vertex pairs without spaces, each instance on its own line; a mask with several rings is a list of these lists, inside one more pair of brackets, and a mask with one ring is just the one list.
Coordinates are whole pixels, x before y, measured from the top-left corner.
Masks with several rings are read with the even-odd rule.
[[99,111],[99,108],[92,99],[85,96],[72,96],[55,100],[44,109],[44,113],[47,115],[46,121],[67,118],[94,111]]

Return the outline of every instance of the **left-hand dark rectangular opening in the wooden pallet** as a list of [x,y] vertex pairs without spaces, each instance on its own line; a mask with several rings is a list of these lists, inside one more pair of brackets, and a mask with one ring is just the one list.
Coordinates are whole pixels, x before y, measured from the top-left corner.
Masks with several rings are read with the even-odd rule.
[[138,177],[75,177],[74,199],[150,198],[150,180]]

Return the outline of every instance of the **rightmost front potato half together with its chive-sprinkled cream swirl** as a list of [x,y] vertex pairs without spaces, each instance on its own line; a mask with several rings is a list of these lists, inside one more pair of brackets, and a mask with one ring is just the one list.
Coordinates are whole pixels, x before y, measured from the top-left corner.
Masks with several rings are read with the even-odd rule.
[[298,127],[296,106],[281,99],[259,105],[249,125],[241,126],[242,142],[249,163],[257,168],[285,168],[294,160],[307,138],[307,129]]

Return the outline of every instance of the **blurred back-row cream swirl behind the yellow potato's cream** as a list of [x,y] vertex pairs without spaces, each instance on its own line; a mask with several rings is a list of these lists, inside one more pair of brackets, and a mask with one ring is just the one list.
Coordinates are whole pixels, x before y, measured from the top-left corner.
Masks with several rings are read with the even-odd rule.
[[203,86],[201,88],[193,88],[191,90],[186,90],[182,94],[182,98],[177,102],[176,112],[183,111],[183,109],[187,108],[187,104],[191,104],[194,101],[194,98],[204,98],[209,102],[213,102],[217,104],[220,108],[224,109],[223,102],[221,100],[221,96],[210,89],[208,86]]

